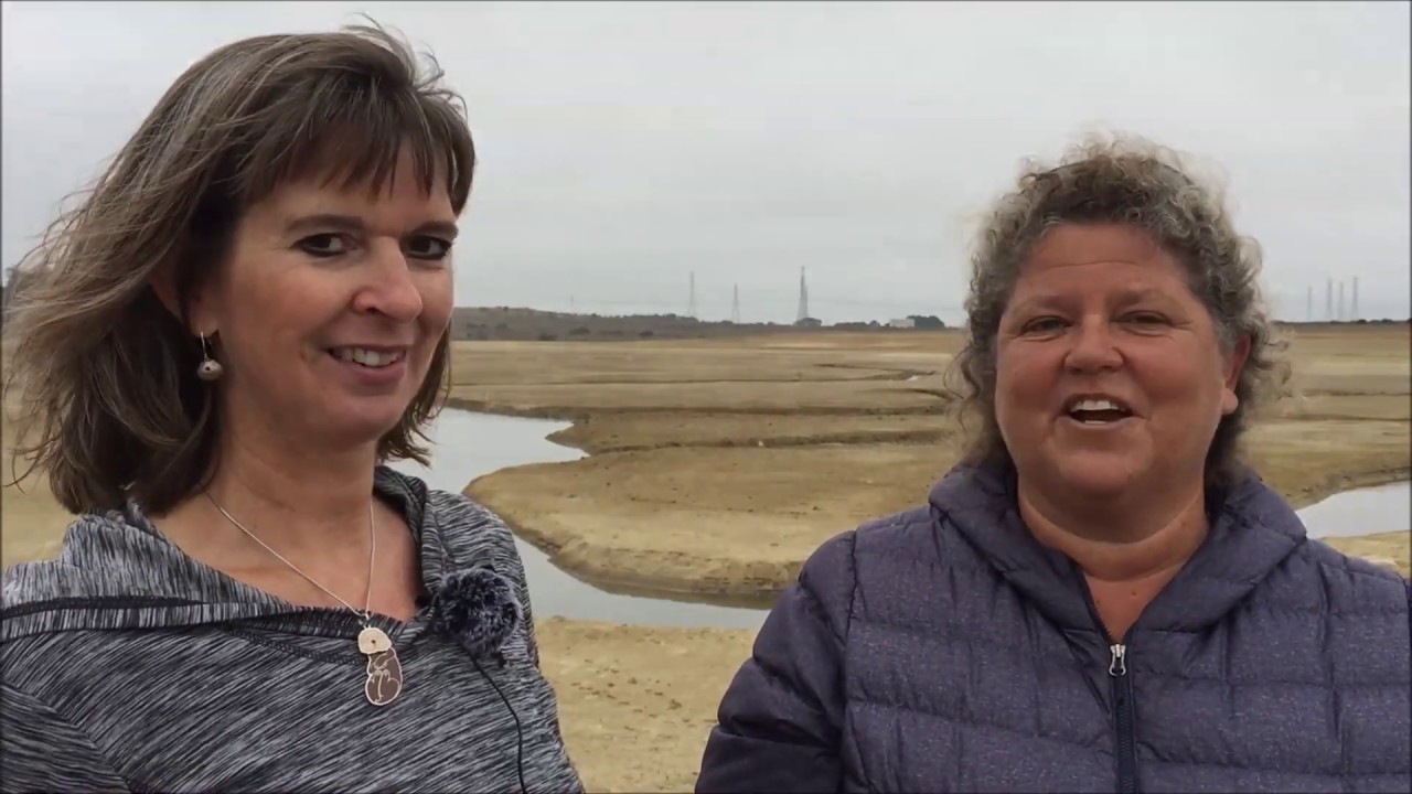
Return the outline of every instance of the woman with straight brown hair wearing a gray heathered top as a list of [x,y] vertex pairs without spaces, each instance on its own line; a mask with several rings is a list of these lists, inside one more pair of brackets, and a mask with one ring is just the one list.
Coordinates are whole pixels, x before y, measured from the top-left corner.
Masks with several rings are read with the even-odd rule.
[[428,462],[459,97],[380,28],[192,65],[27,264],[0,787],[580,790],[505,526]]

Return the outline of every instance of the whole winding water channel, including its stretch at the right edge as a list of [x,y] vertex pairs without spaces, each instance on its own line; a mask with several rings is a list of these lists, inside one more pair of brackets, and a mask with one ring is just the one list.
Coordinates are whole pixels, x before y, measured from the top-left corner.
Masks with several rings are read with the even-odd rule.
[[[527,463],[576,461],[583,452],[548,441],[568,422],[477,414],[456,408],[441,413],[431,437],[432,466],[398,462],[394,468],[422,478],[428,486],[453,493],[470,480]],[[1337,493],[1299,511],[1313,537],[1358,535],[1412,527],[1412,483]],[[603,591],[559,569],[534,544],[515,538],[537,617],[561,616],[651,626],[758,629],[762,609],[716,606],[668,598]]]

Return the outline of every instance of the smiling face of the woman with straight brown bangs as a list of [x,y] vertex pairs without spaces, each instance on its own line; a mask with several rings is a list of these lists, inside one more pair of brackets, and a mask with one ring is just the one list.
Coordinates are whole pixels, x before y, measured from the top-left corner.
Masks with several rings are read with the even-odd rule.
[[[376,442],[426,377],[453,305],[446,191],[409,157],[383,191],[287,184],[250,208],[202,291],[229,422],[336,446]],[[311,438],[312,437],[312,438]]]

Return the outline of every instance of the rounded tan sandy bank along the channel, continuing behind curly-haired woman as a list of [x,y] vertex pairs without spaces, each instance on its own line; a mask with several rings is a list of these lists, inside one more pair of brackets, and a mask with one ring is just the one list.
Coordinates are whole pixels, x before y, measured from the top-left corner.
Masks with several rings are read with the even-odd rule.
[[[1251,441],[1296,509],[1412,469],[1401,421],[1274,421]],[[945,441],[672,446],[501,470],[467,493],[585,579],[768,599],[829,537],[923,503],[957,458]]]

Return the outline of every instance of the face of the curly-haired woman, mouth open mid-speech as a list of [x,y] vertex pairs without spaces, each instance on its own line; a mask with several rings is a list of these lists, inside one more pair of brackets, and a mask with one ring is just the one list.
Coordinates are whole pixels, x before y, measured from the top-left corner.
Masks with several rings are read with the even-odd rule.
[[1001,316],[995,417],[1019,476],[1055,494],[1199,483],[1247,350],[1221,350],[1180,264],[1141,230],[1059,226]]

